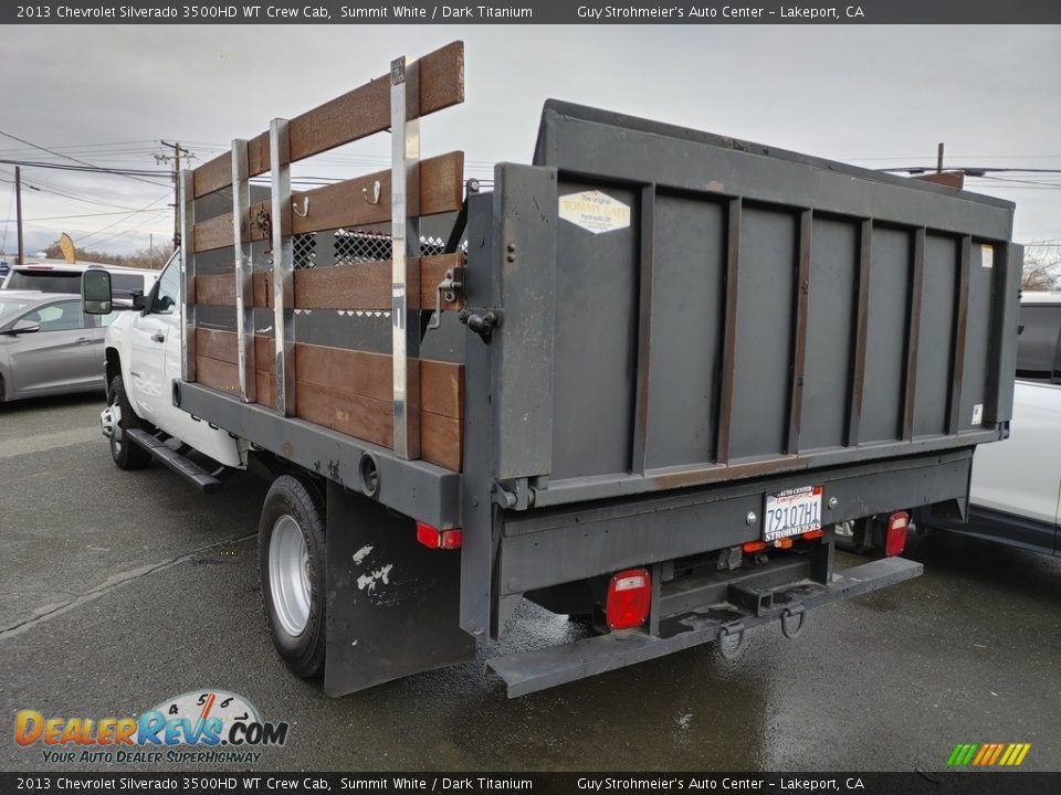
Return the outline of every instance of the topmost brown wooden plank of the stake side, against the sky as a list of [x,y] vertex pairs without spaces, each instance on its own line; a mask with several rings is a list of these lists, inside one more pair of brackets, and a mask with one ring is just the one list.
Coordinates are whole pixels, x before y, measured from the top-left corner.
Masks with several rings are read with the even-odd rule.
[[[424,55],[413,66],[420,73],[421,117],[464,102],[463,42],[447,44]],[[389,72],[291,119],[292,162],[381,132],[388,127]],[[262,138],[260,135],[248,141],[248,166],[252,177],[270,168],[269,147],[262,144]],[[193,181],[197,199],[231,184],[231,153],[221,155],[200,166],[193,173]]]

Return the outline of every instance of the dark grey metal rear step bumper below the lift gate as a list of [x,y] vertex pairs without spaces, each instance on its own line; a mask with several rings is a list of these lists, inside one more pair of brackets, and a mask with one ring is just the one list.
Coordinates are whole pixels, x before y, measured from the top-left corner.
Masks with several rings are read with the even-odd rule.
[[782,618],[795,621],[800,613],[911,580],[923,570],[921,563],[905,558],[883,558],[845,569],[827,585],[800,580],[773,589],[771,605],[766,611],[727,601],[689,612],[676,619],[679,630],[666,637],[630,629],[497,657],[486,665],[505,680],[508,697],[515,698],[711,643],[721,635],[736,635]]

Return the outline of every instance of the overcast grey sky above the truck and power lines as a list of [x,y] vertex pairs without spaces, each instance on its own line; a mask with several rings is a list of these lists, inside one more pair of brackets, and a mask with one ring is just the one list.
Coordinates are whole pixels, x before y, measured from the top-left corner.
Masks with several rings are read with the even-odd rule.
[[[1061,170],[1061,26],[40,25],[0,46],[0,158],[166,171],[192,165],[462,39],[463,105],[421,123],[422,155],[463,149],[466,176],[529,162],[556,97],[866,168]],[[386,135],[319,156],[296,178],[386,168]],[[27,251],[67,232],[130,253],[172,236],[171,182],[24,167]],[[0,165],[0,248],[17,251],[13,167]],[[305,183],[304,183],[305,184]],[[300,186],[296,186],[300,187]],[[1015,239],[1061,240],[1061,173],[967,188],[1017,202]]]

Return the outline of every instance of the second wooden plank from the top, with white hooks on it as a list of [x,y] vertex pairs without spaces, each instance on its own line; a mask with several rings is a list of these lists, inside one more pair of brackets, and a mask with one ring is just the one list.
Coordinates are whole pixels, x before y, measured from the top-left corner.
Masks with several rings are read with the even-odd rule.
[[[420,163],[420,215],[438,215],[456,212],[464,201],[464,152],[429,158]],[[379,183],[379,199],[375,197]],[[336,182],[312,191],[294,192],[292,205],[292,234],[306,234],[324,230],[349,229],[390,220],[390,170],[378,171],[367,177]],[[245,223],[248,240],[267,240],[269,229],[259,219],[270,215],[270,202],[252,204],[250,223]],[[232,213],[225,213],[195,226],[197,254],[232,246]]]

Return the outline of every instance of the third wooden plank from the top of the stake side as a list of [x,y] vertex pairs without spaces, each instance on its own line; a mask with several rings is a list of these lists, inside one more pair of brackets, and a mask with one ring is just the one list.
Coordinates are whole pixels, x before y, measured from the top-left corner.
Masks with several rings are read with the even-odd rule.
[[[419,306],[434,309],[435,288],[450,268],[459,267],[461,254],[420,257]],[[412,263],[410,263],[412,265]],[[273,306],[272,271],[254,273],[254,306]],[[295,271],[296,309],[390,309],[390,259]],[[417,301],[410,298],[411,304]],[[235,306],[235,282],[229,274],[196,276],[196,304]],[[458,301],[442,303],[445,310],[460,309]]]

